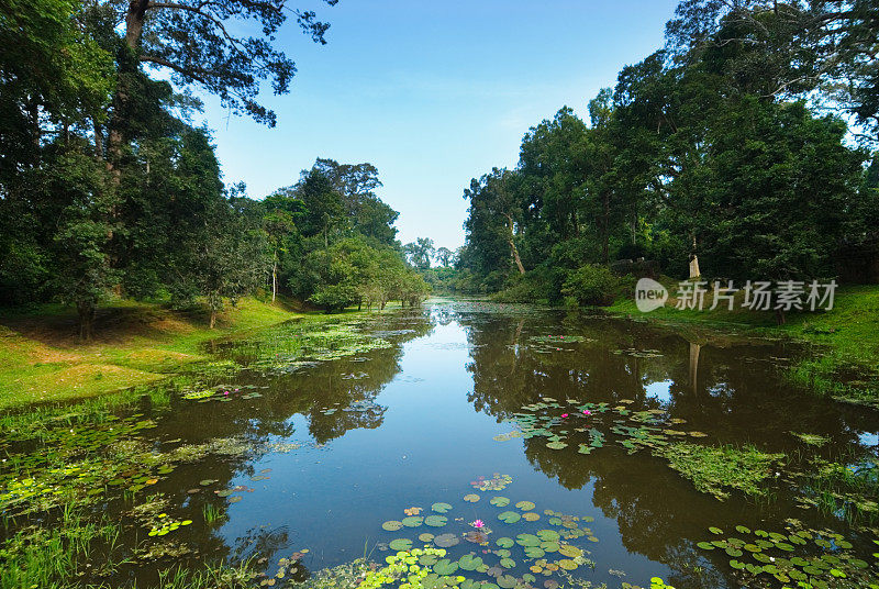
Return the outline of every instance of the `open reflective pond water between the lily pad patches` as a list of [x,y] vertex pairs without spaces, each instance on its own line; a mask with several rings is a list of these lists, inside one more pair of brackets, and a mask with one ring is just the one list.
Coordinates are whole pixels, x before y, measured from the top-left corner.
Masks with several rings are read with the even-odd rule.
[[[499,538],[549,529],[557,533],[539,541],[549,541],[543,559],[550,570],[543,565],[535,587],[545,579],[565,582],[547,575],[565,558],[553,546],[559,532],[561,544],[582,551],[570,554],[580,558],[569,575],[597,586],[648,586],[659,576],[679,589],[781,587],[771,575],[731,567],[730,554],[743,552],[735,543],[728,554],[725,544],[709,551],[697,543],[738,535],[752,545],[745,537],[752,531],[787,534],[786,520],[795,520],[806,530],[843,534],[875,577],[874,524],[808,503],[791,473],[815,456],[858,464],[875,457],[879,419],[788,384],[786,368],[799,353],[790,344],[466,301],[366,315],[354,329],[387,344],[286,363],[282,354],[266,362],[258,337],[218,342],[218,360],[245,368],[211,377],[218,397],[176,397],[171,410],[156,416],[145,435],[159,447],[230,437],[247,444],[243,453],[180,466],[149,489],[194,522],[175,532],[176,541],[198,548],[193,562],[254,557],[274,575],[279,558],[308,551],[302,569],[315,571],[363,556],[383,562],[392,541],[409,538],[418,547],[427,533],[458,538],[448,548],[453,559],[472,553],[496,566],[505,554],[489,552],[498,551]],[[286,337],[285,330],[276,327],[272,337]],[[552,421],[534,425],[534,414]],[[523,436],[541,423],[549,423],[555,437]],[[653,427],[661,440],[633,448],[624,444],[632,426]],[[805,444],[794,433],[822,442]],[[753,445],[787,457],[770,467],[763,494],[725,489],[727,497],[719,499],[652,452],[663,440]],[[554,441],[560,444],[553,447]],[[503,488],[486,489],[496,474]],[[496,497],[502,499],[492,504]],[[450,509],[432,510],[437,503]],[[205,522],[208,504],[222,516]],[[526,512],[539,519],[521,519]],[[420,521],[437,514],[432,522],[441,525]],[[477,520],[485,527],[474,527]],[[474,531],[490,531],[477,538],[488,544],[460,541]],[[809,548],[802,547],[805,556],[814,556]],[[520,546],[511,553],[504,574],[522,579],[535,562],[541,569],[539,557],[523,555]],[[464,574],[493,580],[478,570]]]

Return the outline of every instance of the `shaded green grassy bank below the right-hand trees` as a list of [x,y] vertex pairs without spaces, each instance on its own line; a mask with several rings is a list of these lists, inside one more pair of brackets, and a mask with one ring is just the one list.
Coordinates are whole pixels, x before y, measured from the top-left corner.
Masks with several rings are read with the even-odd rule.
[[[677,284],[663,282],[674,294]],[[711,302],[706,294],[705,310],[678,310],[672,297],[666,307],[645,314],[627,298],[609,310],[664,323],[745,327],[758,335],[801,341],[811,349],[792,366],[793,380],[841,400],[879,404],[879,286],[841,287],[831,311],[789,313],[783,325],[777,324],[772,312],[741,309],[741,300],[732,311],[725,307],[710,311]]]

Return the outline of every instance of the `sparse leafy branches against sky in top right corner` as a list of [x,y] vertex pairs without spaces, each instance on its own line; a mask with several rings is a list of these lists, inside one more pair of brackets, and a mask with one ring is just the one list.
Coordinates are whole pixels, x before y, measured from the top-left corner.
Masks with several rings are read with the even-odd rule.
[[878,138],[877,0],[683,0],[667,36],[682,58],[713,63],[745,92],[821,90]]

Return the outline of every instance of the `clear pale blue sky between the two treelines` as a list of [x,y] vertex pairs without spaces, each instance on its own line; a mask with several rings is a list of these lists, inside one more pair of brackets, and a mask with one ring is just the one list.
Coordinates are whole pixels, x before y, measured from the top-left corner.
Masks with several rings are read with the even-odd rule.
[[470,178],[515,165],[522,135],[569,105],[581,116],[620,68],[663,44],[677,0],[304,0],[332,26],[314,45],[289,23],[279,35],[299,69],[289,95],[264,95],[267,129],[213,99],[226,182],[262,198],[316,157],[370,162],[379,196],[400,211],[405,243],[464,243]]

